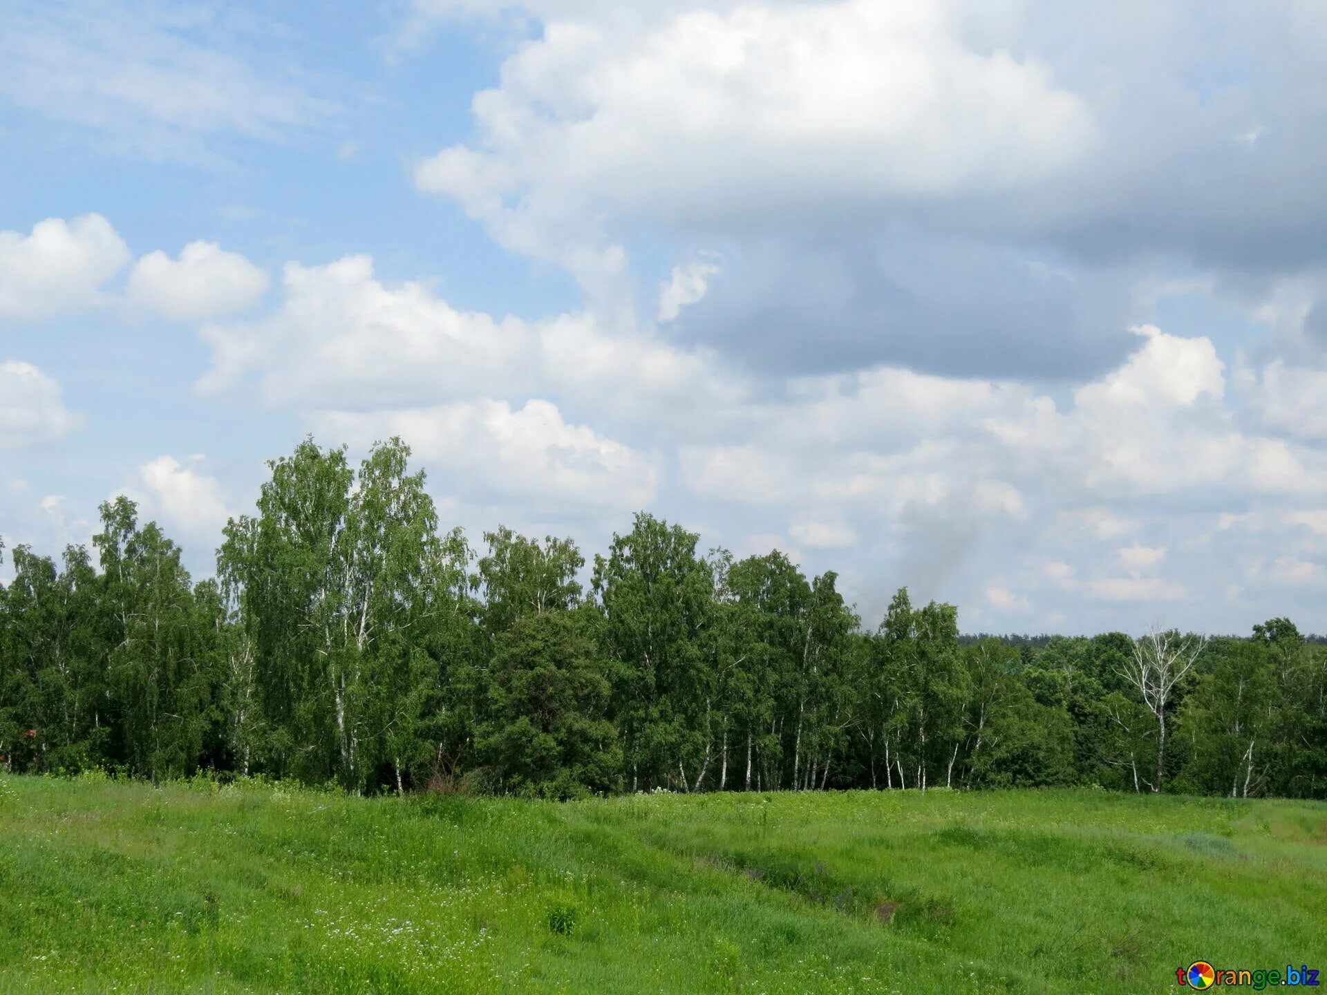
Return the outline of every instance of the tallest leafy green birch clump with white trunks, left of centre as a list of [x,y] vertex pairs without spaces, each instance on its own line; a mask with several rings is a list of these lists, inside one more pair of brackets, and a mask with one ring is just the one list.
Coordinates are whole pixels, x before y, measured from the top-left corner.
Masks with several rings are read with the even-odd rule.
[[[277,773],[362,791],[380,762],[423,637],[439,560],[437,513],[399,439],[356,474],[312,440],[273,460],[256,517],[231,521],[220,573],[256,662],[264,751]],[[399,742],[394,754],[402,752]]]

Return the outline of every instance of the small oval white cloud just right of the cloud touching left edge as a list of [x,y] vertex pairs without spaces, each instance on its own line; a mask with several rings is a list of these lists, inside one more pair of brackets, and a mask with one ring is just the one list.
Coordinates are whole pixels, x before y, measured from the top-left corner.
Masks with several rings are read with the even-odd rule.
[[191,241],[173,260],[157,251],[129,275],[129,298],[173,321],[204,321],[253,306],[267,292],[267,273],[215,241]]

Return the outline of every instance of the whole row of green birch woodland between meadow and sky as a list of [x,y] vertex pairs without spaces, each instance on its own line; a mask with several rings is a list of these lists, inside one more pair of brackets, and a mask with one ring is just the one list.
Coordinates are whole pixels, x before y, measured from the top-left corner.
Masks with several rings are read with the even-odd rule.
[[833,572],[703,553],[638,513],[573,543],[439,528],[398,439],[312,440],[230,521],[216,576],[126,498],[93,551],[11,551],[0,767],[198,772],[352,792],[989,788],[1327,797],[1327,647],[961,637],[898,590],[861,620]]

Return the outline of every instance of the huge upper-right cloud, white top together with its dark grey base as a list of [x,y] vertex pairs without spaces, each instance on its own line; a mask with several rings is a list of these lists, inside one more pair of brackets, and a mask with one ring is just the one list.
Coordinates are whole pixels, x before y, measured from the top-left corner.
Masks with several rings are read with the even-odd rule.
[[637,243],[721,248],[658,314],[751,367],[1096,377],[1154,317],[1136,288],[1327,261],[1302,8],[1121,0],[1085,31],[1052,0],[421,0],[541,33],[417,183],[594,292]]

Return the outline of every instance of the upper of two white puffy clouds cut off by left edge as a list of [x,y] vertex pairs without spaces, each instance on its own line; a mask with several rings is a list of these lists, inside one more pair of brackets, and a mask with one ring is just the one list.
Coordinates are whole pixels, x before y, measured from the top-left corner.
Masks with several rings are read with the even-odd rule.
[[129,247],[100,214],[48,218],[31,235],[0,231],[0,318],[49,318],[102,302]]

